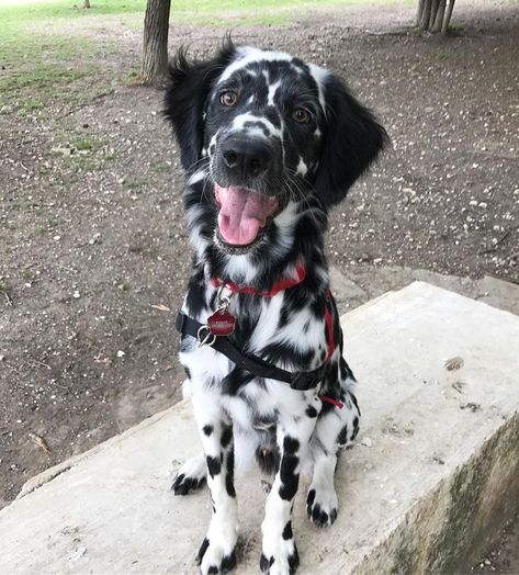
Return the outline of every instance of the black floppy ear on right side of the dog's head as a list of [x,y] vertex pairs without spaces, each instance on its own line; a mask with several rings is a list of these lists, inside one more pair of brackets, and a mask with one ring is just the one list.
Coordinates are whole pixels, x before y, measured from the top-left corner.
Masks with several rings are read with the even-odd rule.
[[388,143],[385,129],[335,76],[324,79],[326,131],[315,188],[325,205],[340,202]]

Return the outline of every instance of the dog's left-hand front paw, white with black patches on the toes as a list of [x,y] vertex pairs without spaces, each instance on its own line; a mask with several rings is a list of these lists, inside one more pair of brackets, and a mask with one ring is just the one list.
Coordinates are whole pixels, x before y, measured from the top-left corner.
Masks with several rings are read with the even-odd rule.
[[236,565],[238,526],[234,521],[211,520],[207,535],[196,554],[196,564],[202,575],[227,573]]

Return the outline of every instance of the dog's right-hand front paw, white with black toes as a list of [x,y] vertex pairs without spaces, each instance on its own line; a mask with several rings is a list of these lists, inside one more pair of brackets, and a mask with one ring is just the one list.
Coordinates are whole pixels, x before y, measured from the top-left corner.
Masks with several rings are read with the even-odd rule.
[[300,565],[300,554],[289,521],[283,533],[277,530],[263,530],[263,550],[260,568],[266,575],[293,575]]

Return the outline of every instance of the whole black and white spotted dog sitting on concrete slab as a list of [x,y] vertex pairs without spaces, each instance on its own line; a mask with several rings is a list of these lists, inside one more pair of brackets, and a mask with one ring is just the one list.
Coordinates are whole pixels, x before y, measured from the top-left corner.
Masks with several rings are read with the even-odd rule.
[[166,115],[187,171],[196,256],[178,317],[204,453],[178,472],[185,495],[205,478],[213,515],[203,574],[235,565],[235,454],[275,471],[260,567],[294,573],[291,515],[305,461],[307,511],[331,525],[339,450],[357,436],[356,380],[324,250],[328,213],[377,157],[384,128],[328,70],[285,53],[227,43],[208,61],[171,65]]

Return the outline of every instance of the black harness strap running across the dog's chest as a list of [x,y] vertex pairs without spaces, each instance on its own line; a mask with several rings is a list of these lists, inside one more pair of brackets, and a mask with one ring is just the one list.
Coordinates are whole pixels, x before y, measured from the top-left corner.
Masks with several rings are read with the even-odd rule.
[[[205,327],[196,319],[187,316],[179,312],[176,320],[177,330],[181,334],[199,339],[200,329]],[[282,370],[277,365],[272,365],[262,360],[258,356],[245,354],[241,350],[236,348],[225,336],[214,337],[211,347],[219,353],[227,357],[233,363],[247,370],[258,377],[266,377],[269,380],[279,380],[290,384],[292,390],[307,391],[315,387],[325,374],[326,363],[313,371],[297,371],[290,372]]]

